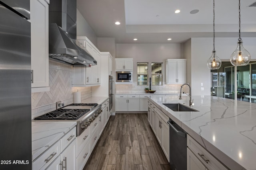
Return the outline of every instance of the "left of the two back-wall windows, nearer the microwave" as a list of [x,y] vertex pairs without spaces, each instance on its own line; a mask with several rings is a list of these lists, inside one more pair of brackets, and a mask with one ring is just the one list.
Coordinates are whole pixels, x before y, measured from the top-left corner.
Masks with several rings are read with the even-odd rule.
[[137,85],[148,85],[148,63],[137,63]]

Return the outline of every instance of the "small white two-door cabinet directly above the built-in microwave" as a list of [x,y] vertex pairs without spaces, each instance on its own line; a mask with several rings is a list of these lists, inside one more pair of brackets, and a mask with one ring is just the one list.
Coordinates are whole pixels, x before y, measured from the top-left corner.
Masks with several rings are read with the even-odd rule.
[[132,71],[132,70],[133,70],[132,58],[116,59],[116,71]]

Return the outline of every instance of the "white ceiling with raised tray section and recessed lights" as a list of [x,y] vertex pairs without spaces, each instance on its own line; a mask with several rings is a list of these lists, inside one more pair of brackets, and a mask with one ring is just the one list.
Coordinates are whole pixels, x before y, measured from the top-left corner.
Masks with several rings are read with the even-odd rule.
[[[241,37],[256,37],[256,7],[248,7],[254,2],[241,0]],[[213,37],[212,0],[77,0],[77,8],[97,37],[115,37],[116,43]],[[181,12],[175,14],[176,9]],[[215,0],[215,32],[216,37],[238,37],[238,0]]]

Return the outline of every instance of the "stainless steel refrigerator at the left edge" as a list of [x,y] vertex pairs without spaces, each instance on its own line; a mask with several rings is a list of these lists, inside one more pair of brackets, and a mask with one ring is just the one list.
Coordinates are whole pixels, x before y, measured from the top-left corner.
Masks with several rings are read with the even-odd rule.
[[0,0],[0,170],[31,167],[30,0]]

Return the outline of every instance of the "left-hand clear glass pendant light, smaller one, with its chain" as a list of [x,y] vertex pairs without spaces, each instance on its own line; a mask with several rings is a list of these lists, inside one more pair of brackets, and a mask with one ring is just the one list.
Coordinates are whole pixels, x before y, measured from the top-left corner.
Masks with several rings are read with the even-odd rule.
[[221,66],[221,61],[220,58],[216,55],[216,51],[215,51],[215,25],[214,25],[214,21],[215,21],[215,12],[214,12],[214,0],[213,0],[213,51],[212,51],[212,56],[210,57],[210,59],[208,59],[207,61],[207,67],[210,70],[216,70],[219,69]]

